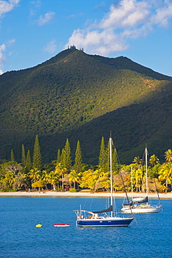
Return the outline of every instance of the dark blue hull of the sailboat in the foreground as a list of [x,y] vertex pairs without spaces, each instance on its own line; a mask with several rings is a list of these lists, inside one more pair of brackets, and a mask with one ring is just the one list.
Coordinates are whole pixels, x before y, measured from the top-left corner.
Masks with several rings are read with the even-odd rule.
[[127,220],[77,220],[79,227],[127,227],[132,222]]

